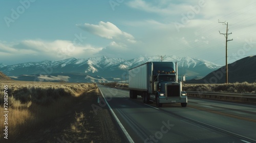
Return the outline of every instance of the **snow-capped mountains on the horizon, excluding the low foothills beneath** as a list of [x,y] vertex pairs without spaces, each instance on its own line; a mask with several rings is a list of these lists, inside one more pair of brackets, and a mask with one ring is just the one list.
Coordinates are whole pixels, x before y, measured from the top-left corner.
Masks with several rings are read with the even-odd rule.
[[[112,77],[119,78],[120,80],[122,78],[122,80],[124,80],[129,68],[150,61],[161,61],[161,59],[159,56],[138,57],[129,60],[122,58],[110,58],[106,56],[88,59],[69,58],[60,61],[44,60],[39,62],[5,65],[0,67],[0,71],[7,76],[12,77],[20,75],[56,75],[58,73],[75,73],[90,75],[90,77]],[[186,79],[204,77],[211,71],[221,67],[220,65],[206,60],[190,57],[164,56],[163,61],[178,62],[179,75],[186,75]]]

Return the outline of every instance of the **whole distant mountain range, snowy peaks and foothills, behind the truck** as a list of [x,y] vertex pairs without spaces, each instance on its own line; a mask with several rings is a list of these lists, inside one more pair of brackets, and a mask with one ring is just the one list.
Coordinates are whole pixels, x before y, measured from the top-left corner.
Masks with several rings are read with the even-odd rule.
[[[134,59],[110,58],[69,58],[59,61],[44,60],[14,65],[0,63],[0,71],[14,80],[23,81],[65,81],[65,82],[109,82],[128,80],[129,68],[145,62],[161,61],[159,56]],[[186,80],[203,78],[220,68],[215,63],[190,57],[164,56],[163,61],[178,62],[179,75]]]

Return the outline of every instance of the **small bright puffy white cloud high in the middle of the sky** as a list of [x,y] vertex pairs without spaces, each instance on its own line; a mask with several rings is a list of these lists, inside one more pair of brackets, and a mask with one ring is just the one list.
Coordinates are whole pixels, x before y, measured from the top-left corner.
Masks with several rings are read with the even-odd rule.
[[136,40],[132,34],[121,31],[117,26],[111,22],[100,21],[98,25],[84,23],[83,25],[76,25],[77,27],[88,31],[94,35],[113,40],[122,40],[135,43]]

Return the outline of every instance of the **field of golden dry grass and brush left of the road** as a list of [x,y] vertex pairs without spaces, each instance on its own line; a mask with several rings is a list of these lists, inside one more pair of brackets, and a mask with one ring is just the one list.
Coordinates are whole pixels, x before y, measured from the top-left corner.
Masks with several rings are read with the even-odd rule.
[[[0,112],[4,108],[4,85],[8,85],[8,136],[17,136],[67,111],[80,94],[96,87],[93,83],[17,82],[0,83]],[[77,120],[81,120],[79,114]],[[80,123],[79,123],[80,125]],[[4,121],[0,129],[4,129]],[[3,134],[0,134],[3,138]]]

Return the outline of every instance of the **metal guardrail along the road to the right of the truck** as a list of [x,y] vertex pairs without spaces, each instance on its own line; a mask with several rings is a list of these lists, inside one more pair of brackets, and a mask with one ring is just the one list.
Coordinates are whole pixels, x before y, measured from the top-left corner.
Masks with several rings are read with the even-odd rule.
[[256,102],[256,94],[248,93],[225,93],[225,92],[204,92],[204,91],[186,91],[187,96],[219,99],[227,101],[240,101],[240,102]]

